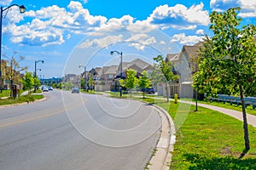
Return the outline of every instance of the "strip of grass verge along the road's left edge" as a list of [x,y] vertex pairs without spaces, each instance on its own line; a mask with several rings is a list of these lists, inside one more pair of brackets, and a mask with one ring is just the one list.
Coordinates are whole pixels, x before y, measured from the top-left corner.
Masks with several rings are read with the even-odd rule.
[[29,103],[33,102],[37,99],[43,99],[44,95],[22,95],[19,98],[8,98],[8,99],[0,99],[0,105],[13,105],[20,103]]

